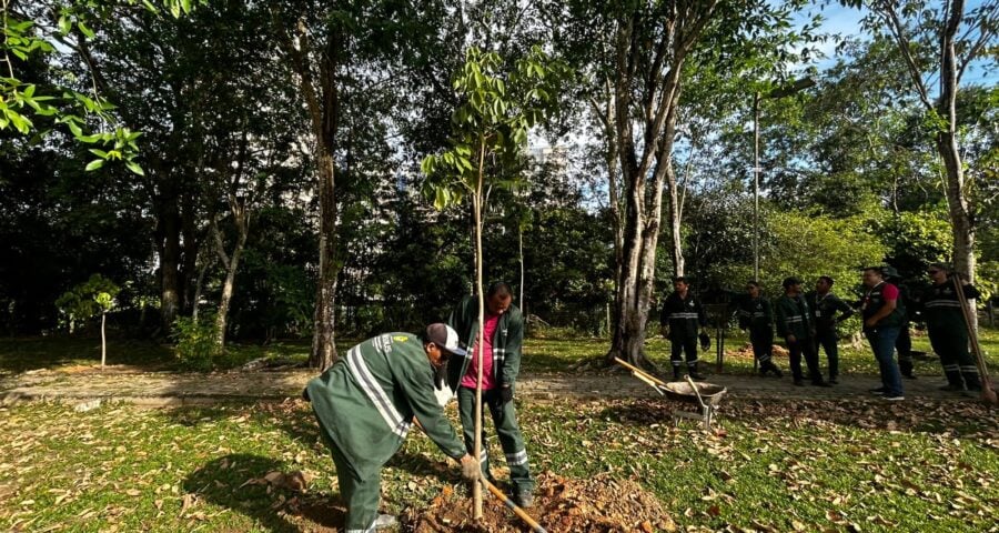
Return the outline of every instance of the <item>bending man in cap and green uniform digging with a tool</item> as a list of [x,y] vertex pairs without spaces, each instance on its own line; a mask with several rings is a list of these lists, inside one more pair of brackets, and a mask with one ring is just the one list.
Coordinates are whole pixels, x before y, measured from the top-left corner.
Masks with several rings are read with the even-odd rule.
[[457,333],[446,324],[431,324],[423,335],[386,333],[350,349],[305,386],[303,396],[312,402],[336,465],[347,533],[397,523],[392,515],[379,514],[381,472],[402,446],[414,416],[427,436],[461,463],[465,479],[478,479],[478,461],[465,453],[434,394],[447,360],[464,354]]

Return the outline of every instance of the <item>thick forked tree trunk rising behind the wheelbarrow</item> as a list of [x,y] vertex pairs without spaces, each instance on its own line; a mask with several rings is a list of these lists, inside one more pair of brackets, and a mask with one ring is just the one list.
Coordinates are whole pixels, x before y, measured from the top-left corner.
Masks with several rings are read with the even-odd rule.
[[[626,209],[616,302],[618,319],[608,361],[620,358],[636,366],[653,368],[645,354],[645,329],[652,305],[663,190],[667,181],[670,204],[678,205],[670,158],[680,71],[716,3],[710,0],[676,6],[676,11],[667,10],[667,16],[655,20],[646,20],[646,13],[636,11],[619,21],[615,43],[615,133]],[[659,39],[655,42],[640,31],[643,24],[652,23],[662,24],[656,28]],[[646,61],[648,59],[650,61]],[[637,99],[633,98],[636,86],[643,88]],[[635,120],[636,115],[640,120]],[[640,137],[635,134],[636,125],[642,130]],[[636,145],[638,140],[640,147]],[[649,174],[652,183],[648,182]],[[682,272],[678,220],[670,232],[674,263]]]

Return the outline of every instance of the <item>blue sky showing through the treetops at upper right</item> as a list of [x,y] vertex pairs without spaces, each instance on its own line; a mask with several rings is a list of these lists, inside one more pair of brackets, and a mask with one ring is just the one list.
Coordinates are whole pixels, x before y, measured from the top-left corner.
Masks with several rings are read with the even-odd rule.
[[[965,12],[969,12],[972,9],[980,7],[985,1],[986,0],[969,0],[965,8]],[[825,19],[819,28],[819,32],[821,33],[838,33],[844,37],[862,37],[865,34],[864,30],[860,28],[860,19],[866,14],[866,10],[861,11],[858,9],[845,8],[835,1],[829,2],[829,4],[823,8],[823,3],[821,0],[814,0],[811,8],[800,12],[796,18],[798,27],[800,28],[810,19],[810,13],[820,13]],[[965,27],[962,26],[961,29],[963,30]],[[828,42],[819,46],[826,56],[826,59],[816,63],[819,71],[824,71],[835,64],[836,44],[836,41],[830,39]],[[999,83],[999,69],[989,69],[981,60],[972,61],[965,71],[963,78],[961,78],[961,86],[996,86],[997,83]]]

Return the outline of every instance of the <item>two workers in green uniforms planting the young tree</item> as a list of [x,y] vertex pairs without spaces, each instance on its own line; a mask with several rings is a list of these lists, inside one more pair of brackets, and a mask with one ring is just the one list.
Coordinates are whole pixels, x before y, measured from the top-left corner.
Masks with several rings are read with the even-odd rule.
[[[320,434],[336,466],[347,509],[347,533],[374,532],[397,523],[392,515],[379,514],[381,471],[414,422],[461,464],[465,480],[478,483],[480,476],[485,476],[493,482],[484,424],[481,454],[472,455],[480,360],[483,404],[509,466],[515,502],[522,507],[533,504],[535,482],[513,402],[524,319],[512,300],[508,284],[493,283],[485,294],[482,324],[477,298],[465,296],[446,324],[431,324],[418,335],[386,333],[369,339],[305,386],[303,396],[312,402]],[[450,391],[457,394],[464,442],[438,400],[446,400]]]

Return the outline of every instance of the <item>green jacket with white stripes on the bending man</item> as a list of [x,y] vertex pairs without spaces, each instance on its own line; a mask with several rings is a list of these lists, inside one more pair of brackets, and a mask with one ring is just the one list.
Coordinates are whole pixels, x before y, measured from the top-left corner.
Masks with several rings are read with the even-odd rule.
[[444,453],[465,454],[434,395],[434,370],[416,335],[369,339],[306,389],[320,425],[361,479],[398,451],[414,415]]

